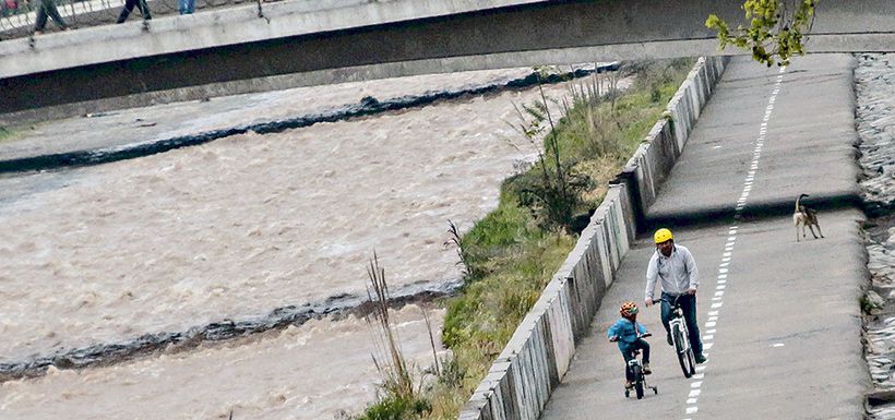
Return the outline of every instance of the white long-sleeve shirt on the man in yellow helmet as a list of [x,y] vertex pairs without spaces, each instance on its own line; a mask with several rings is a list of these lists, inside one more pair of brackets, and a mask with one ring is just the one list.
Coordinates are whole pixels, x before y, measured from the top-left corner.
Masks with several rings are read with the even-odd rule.
[[700,271],[693,254],[685,247],[675,244],[671,255],[656,250],[646,267],[646,299],[653,299],[656,277],[661,278],[661,291],[677,296],[700,286]]

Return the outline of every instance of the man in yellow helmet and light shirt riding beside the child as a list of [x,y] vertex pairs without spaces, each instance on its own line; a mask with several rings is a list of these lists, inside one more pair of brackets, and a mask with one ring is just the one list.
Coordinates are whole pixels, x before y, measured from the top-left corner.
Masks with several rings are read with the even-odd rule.
[[700,326],[696,323],[696,288],[700,286],[696,261],[683,245],[676,245],[675,238],[668,229],[656,230],[653,236],[656,243],[656,252],[649,259],[646,267],[646,299],[644,303],[649,307],[653,300],[653,291],[656,288],[656,278],[661,279],[661,324],[665,326],[668,345],[671,343],[671,331],[668,321],[671,319],[671,302],[679,298],[683,317],[687,321],[687,329],[690,332],[690,346],[693,348],[696,363],[705,362],[702,353],[702,338],[700,337]]

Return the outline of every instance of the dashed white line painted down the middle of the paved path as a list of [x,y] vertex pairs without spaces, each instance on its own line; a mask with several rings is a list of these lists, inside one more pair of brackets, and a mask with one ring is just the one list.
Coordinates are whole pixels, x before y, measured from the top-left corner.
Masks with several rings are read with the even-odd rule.
[[[733,254],[733,247],[737,244],[737,231],[739,230],[739,226],[736,225],[738,220],[742,217],[742,211],[745,208],[745,203],[749,201],[749,193],[752,191],[752,182],[755,180],[755,173],[759,170],[759,161],[762,157],[762,148],[764,147],[764,137],[767,134],[767,121],[771,120],[771,115],[774,112],[774,103],[777,101],[777,95],[780,93],[780,84],[783,83],[783,73],[786,71],[785,67],[780,68],[780,74],[777,75],[777,81],[774,83],[774,92],[771,94],[771,98],[767,100],[767,107],[764,111],[764,117],[762,118],[761,127],[759,128],[759,136],[755,139],[755,147],[752,151],[752,161],[749,166],[749,171],[747,172],[748,176],[743,180],[743,189],[740,197],[737,200],[737,204],[733,207],[733,220],[735,225],[730,226],[727,231],[727,243],[724,245],[724,252],[721,253],[721,262],[718,264],[718,277],[717,283],[715,285],[715,295],[712,298],[712,310],[708,311],[708,321],[705,323],[706,329],[705,334],[703,335],[703,350],[708,350],[715,346],[715,334],[717,334],[718,329],[718,314],[720,313],[720,308],[724,305],[724,291],[727,288],[727,281],[729,280],[728,275],[729,269],[727,268],[732,261]],[[773,347],[783,347],[783,343],[774,344]],[[708,356],[703,351],[703,355]],[[707,370],[708,365],[702,364],[696,367],[696,371],[700,374],[694,375],[693,379],[697,379],[700,381],[695,381],[690,384],[691,391],[687,398],[687,415],[695,415],[699,412],[699,399],[700,395],[702,394],[702,384],[703,379],[705,377],[705,371]],[[699,376],[699,377],[697,377]],[[692,420],[692,418],[685,418],[683,420]]]

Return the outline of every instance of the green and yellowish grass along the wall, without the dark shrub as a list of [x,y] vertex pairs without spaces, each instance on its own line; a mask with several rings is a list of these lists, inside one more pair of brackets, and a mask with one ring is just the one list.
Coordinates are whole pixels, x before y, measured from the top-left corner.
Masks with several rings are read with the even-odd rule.
[[[599,205],[608,181],[661,118],[693,62],[676,60],[643,65],[637,69],[636,82],[617,98],[614,109],[607,100],[585,95],[577,97],[566,115],[556,121],[556,130],[548,136],[556,136],[563,161],[592,181],[593,187],[583,194],[582,211]],[[498,208],[460,240],[468,273],[460,296],[445,302],[442,332],[442,341],[452,350],[453,359],[445,363],[450,369],[444,371],[450,374],[442,373],[423,393],[431,410],[420,413],[422,418],[457,417],[575,245],[576,235],[561,229],[542,230],[534,213],[520,204],[518,185],[524,184],[526,177],[536,181],[539,171],[535,166],[505,180]]]

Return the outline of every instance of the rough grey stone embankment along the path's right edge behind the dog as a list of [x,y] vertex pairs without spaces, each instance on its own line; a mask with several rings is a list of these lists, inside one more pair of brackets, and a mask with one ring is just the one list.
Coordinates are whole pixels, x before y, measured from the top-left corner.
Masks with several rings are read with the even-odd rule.
[[856,125],[870,285],[862,307],[871,419],[895,418],[895,56],[862,55],[855,69]]

